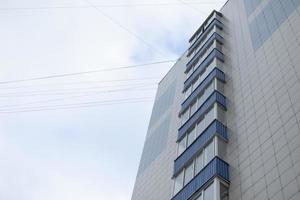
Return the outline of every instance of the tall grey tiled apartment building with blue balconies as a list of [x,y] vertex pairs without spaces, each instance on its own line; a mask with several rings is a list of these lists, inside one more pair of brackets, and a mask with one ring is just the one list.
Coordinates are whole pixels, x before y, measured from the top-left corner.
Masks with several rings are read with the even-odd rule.
[[208,16],[159,84],[132,200],[300,199],[299,5]]

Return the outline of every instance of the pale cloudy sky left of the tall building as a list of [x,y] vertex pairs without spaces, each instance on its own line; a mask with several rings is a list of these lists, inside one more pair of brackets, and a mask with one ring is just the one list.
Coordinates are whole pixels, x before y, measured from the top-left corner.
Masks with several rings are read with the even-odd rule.
[[224,2],[0,1],[0,199],[129,200],[157,84]]

